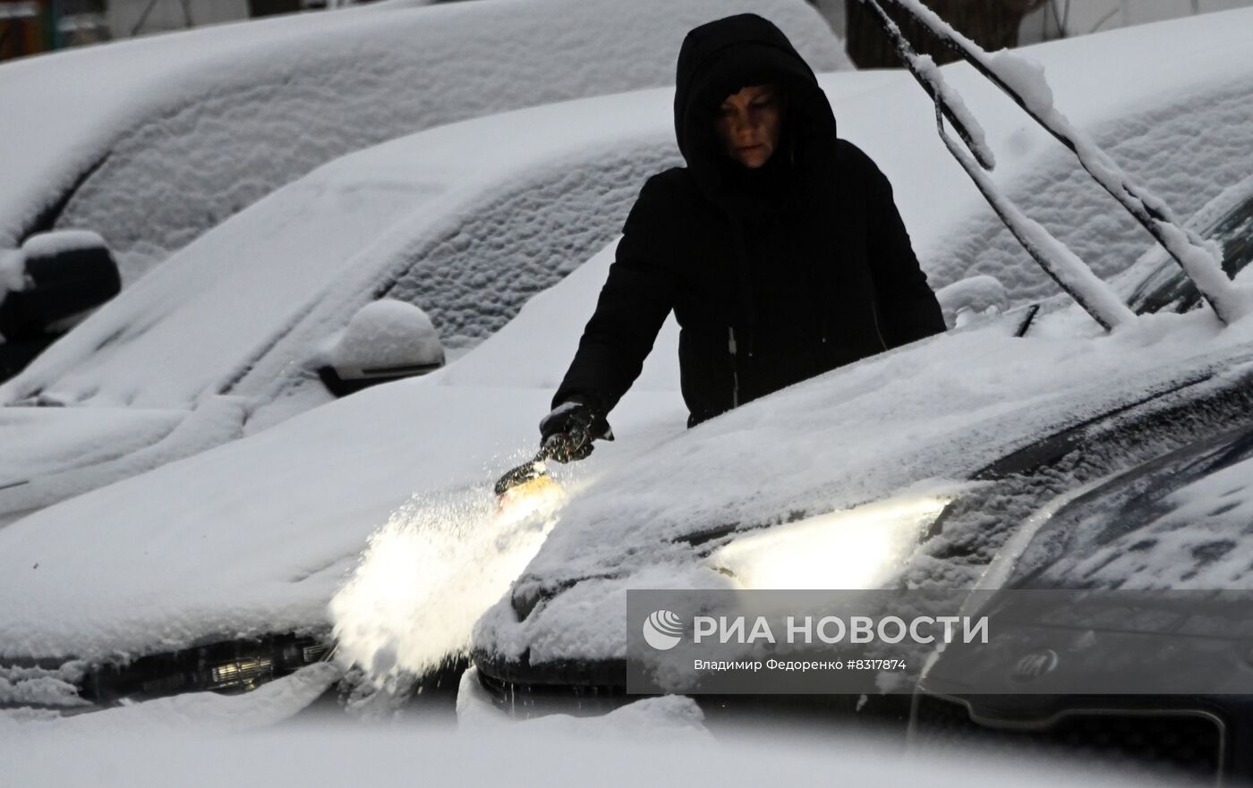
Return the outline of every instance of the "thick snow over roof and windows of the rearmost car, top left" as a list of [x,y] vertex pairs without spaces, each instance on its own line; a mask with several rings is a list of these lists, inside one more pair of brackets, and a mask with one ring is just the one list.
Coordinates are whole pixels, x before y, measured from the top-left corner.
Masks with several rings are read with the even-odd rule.
[[125,284],[351,150],[521,106],[673,84],[695,25],[776,21],[816,70],[851,68],[802,0],[480,0],[301,14],[0,65],[0,247],[101,233]]

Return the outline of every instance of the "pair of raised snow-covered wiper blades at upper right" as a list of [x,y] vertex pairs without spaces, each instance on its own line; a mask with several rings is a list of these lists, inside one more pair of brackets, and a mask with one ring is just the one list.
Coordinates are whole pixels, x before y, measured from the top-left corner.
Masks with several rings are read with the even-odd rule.
[[[1200,236],[1185,229],[1160,198],[1129,178],[1086,134],[1075,129],[1056,110],[1053,105],[1053,91],[1034,63],[1007,51],[990,55],[949,26],[921,0],[885,1],[918,20],[976,71],[1009,95],[1032,120],[1070,149],[1093,179],[1116,199],[1179,263],[1184,276],[1192,279],[1220,321],[1230,323],[1248,311],[1248,304],[1227,278],[1214,251],[1205,244]],[[995,162],[982,139],[982,130],[965,110],[957,94],[944,83],[944,78],[931,58],[915,53],[896,24],[883,11],[880,0],[862,0],[862,3],[871,10],[872,18],[878,21],[883,33],[893,43],[897,55],[906,68],[935,100],[937,122],[947,118],[970,150],[974,152],[979,164],[984,169],[992,169]],[[1007,198],[1001,195],[986,173],[974,169],[970,155],[961,152],[954,140],[945,134],[942,122],[940,127],[940,135],[949,150],[971,175],[1010,232],[1022,243],[1027,253],[1044,267],[1045,272],[1105,328],[1111,328],[1128,319],[1131,314],[1130,311],[1114,296],[1113,291],[1070,249],[1053,238],[1037,223],[1027,219]],[[1075,269],[1076,263],[1081,271]],[[1096,287],[1091,287],[1094,279],[1098,283]]]

